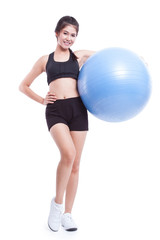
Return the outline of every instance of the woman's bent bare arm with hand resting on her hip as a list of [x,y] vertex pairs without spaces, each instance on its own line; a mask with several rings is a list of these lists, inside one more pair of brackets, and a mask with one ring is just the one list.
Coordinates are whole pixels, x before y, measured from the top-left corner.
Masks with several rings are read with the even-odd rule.
[[31,71],[27,74],[27,76],[24,78],[24,80],[21,82],[19,86],[19,90],[30,97],[31,99],[35,100],[38,103],[41,104],[48,104],[53,103],[56,100],[56,97],[54,94],[48,93],[45,98],[42,98],[38,94],[36,94],[34,91],[31,90],[30,86],[32,82],[45,71],[46,63],[48,60],[48,56],[43,56],[38,59],[38,61],[34,64]]

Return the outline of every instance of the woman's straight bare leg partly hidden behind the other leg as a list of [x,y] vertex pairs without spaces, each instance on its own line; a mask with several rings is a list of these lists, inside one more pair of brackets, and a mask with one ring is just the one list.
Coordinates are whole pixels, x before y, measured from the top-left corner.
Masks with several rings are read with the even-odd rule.
[[72,211],[78,187],[80,158],[84,142],[86,139],[87,131],[71,131],[70,134],[74,143],[74,147],[76,149],[76,156],[74,159],[74,163],[71,169],[70,178],[66,189],[65,213],[71,213]]

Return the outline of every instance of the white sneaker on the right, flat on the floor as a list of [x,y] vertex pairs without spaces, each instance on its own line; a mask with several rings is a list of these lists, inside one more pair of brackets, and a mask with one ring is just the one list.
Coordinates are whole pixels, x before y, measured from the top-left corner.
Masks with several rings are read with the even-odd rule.
[[75,224],[70,213],[65,213],[62,215],[61,223],[62,223],[62,227],[64,227],[64,229],[66,231],[76,231],[77,230],[77,225]]

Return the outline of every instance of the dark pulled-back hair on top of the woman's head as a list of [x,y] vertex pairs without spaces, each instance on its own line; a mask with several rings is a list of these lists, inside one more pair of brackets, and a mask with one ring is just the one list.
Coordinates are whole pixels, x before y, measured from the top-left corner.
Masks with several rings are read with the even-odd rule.
[[76,32],[78,34],[79,23],[77,22],[77,20],[74,17],[71,17],[71,16],[62,17],[57,23],[57,26],[55,28],[55,32],[59,33],[64,27],[66,27],[68,25],[73,25],[76,28]]

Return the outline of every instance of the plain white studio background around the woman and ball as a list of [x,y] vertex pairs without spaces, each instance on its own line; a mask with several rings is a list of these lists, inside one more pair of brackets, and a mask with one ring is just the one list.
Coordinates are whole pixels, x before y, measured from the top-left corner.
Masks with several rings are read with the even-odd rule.
[[[0,238],[160,239],[159,1],[6,0],[0,4]],[[146,108],[123,123],[89,115],[75,233],[47,227],[59,152],[47,130],[45,107],[18,91],[34,62],[54,51],[64,15],[80,24],[73,50],[125,47],[143,56],[152,77]],[[48,91],[46,75],[32,86]]]

